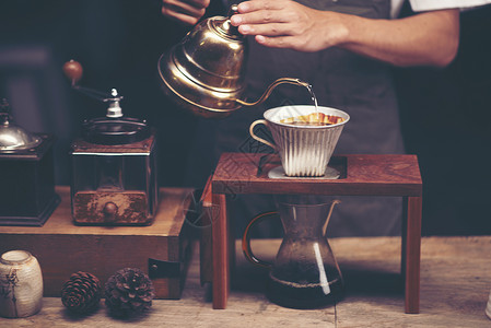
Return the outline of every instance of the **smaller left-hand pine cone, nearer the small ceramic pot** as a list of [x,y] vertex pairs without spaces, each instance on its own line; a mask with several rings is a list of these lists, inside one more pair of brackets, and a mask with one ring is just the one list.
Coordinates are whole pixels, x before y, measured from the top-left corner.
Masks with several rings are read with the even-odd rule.
[[87,314],[94,311],[101,301],[101,282],[92,273],[73,273],[61,288],[61,302],[71,312]]

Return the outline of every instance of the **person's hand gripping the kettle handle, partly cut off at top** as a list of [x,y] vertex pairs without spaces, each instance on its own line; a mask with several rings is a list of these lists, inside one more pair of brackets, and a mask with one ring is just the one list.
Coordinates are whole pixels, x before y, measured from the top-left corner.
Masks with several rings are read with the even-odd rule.
[[175,21],[195,25],[210,4],[210,0],[162,0],[162,13]]

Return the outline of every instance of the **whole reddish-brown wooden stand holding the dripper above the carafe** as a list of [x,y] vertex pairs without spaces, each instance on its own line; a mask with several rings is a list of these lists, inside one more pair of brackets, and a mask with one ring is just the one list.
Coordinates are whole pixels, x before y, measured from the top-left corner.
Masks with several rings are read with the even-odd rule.
[[[224,153],[203,194],[212,222],[213,308],[225,308],[234,263],[233,234],[226,214],[226,195],[309,194],[330,196],[399,196],[405,200],[402,259],[406,313],[419,313],[422,181],[416,155],[342,155],[329,166],[338,179],[271,179],[268,172],[281,165],[278,156]],[[206,271],[202,273],[209,274]]]

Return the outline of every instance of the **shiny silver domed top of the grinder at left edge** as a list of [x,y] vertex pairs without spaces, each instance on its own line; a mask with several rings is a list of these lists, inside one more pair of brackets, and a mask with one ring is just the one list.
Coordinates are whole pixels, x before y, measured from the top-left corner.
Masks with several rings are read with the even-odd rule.
[[0,152],[37,147],[42,139],[16,126],[10,116],[7,99],[0,102]]

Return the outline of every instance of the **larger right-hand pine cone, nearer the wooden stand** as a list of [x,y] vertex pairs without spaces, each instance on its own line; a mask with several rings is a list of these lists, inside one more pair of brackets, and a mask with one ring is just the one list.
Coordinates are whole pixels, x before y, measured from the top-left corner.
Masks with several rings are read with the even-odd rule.
[[105,285],[106,306],[117,316],[141,314],[152,306],[155,296],[152,281],[138,268],[125,268]]

